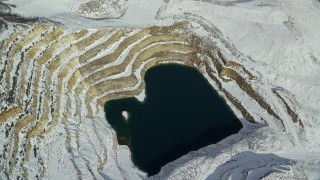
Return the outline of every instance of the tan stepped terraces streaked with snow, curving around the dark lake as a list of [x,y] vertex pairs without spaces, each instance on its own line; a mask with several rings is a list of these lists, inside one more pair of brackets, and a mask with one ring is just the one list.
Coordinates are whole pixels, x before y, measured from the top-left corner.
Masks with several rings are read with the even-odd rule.
[[[200,36],[194,26],[211,35]],[[75,32],[39,24],[6,37],[0,55],[0,161],[8,178],[115,178],[123,172],[144,177],[123,159],[127,149],[118,146],[103,105],[139,95],[145,72],[160,63],[199,69],[239,117],[251,123],[273,119],[290,133],[281,111],[252,86],[261,82],[241,65],[245,57],[203,23]],[[248,109],[252,104],[261,111]]]

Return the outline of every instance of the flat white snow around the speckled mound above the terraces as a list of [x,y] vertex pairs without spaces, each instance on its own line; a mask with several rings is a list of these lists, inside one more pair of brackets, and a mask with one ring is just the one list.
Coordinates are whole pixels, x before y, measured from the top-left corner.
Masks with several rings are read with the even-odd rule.
[[[119,2],[125,3],[123,0]],[[53,0],[48,3],[43,0],[9,0],[9,3],[17,5],[17,8],[13,9],[14,13],[24,16],[47,17],[78,29],[84,27],[146,27],[154,25],[158,23],[155,16],[163,4],[161,0],[153,1],[152,3],[149,0],[128,0],[128,6],[124,7],[124,14],[120,18],[108,17],[107,19],[94,20],[77,16],[73,12],[73,7],[80,6],[81,1]]]

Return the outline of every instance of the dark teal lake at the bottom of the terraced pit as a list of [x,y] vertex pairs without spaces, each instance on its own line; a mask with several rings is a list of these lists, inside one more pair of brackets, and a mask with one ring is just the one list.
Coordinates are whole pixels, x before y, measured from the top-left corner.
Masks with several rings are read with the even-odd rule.
[[144,102],[108,101],[105,112],[119,144],[130,147],[133,163],[149,176],[242,128],[223,98],[191,67],[159,65],[146,72],[145,82]]

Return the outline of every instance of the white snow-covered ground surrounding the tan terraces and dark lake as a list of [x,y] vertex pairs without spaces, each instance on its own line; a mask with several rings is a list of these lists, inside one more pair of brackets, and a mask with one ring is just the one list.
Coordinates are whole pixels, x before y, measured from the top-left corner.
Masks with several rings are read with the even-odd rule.
[[[104,6],[103,9],[111,13],[108,15],[105,13],[97,15],[101,9],[79,13],[81,5],[90,3],[89,0],[52,0],[49,3],[43,0],[9,0],[7,2],[17,5],[12,9],[14,13],[27,17],[46,17],[66,25],[68,32],[66,30],[65,33],[90,29],[83,38],[90,37],[96,32],[96,29],[105,27],[133,28],[139,31],[145,27],[162,26],[187,20],[194,25],[192,31],[199,37],[213,39],[215,44],[212,46],[220,48],[227,60],[241,64],[258,77],[256,81],[248,82],[280,116],[281,122],[269,115],[236,83],[224,83],[223,88],[241,101],[257,123],[248,123],[243,119],[240,111],[228,102],[244,125],[238,134],[196,152],[190,152],[164,166],[158,175],[151,178],[241,179],[244,177],[247,179],[309,178],[314,180],[320,178],[319,1],[123,0],[119,1],[119,6]],[[105,2],[110,5],[111,2],[116,1]],[[118,7],[121,8],[117,9]],[[108,19],[93,20],[86,17],[107,17]],[[214,33],[203,29],[204,26],[200,26],[198,22],[208,24]],[[136,31],[133,31],[132,34],[128,33],[127,36],[135,34]],[[7,33],[10,34],[11,30]],[[3,36],[5,35],[1,35]],[[39,36],[34,41],[40,38]],[[87,49],[79,50],[68,58],[74,59],[108,38],[110,37],[101,37],[93,43],[92,47],[88,46]],[[225,39],[226,44],[220,39]],[[115,51],[122,40],[89,61]],[[78,40],[75,39],[70,40],[65,47],[62,47],[61,52],[69,44],[77,42]],[[127,54],[130,48],[124,50],[124,54]],[[55,51],[59,54],[59,50]],[[120,61],[121,58],[117,63],[121,63]],[[63,62],[62,65],[67,65],[67,63]],[[76,68],[80,68],[80,65],[74,67]],[[135,73],[140,75],[140,71],[141,69],[138,68]],[[45,69],[43,72],[46,72]],[[119,76],[128,76],[132,73],[129,69]],[[69,74],[68,78],[71,78],[72,75]],[[204,75],[210,80],[208,74],[204,73]],[[10,76],[13,77],[14,74]],[[141,77],[139,78],[141,80]],[[52,82],[54,83],[55,81]],[[77,85],[79,86],[80,83],[79,80]],[[213,81],[211,83],[217,88]],[[2,87],[5,85],[1,85]],[[67,91],[66,89],[67,87],[63,87],[63,90]],[[84,88],[80,93],[80,98],[85,99],[88,91]],[[141,92],[136,97],[142,101],[144,96],[144,92]],[[65,98],[61,104],[68,101],[69,97],[65,96]],[[76,97],[71,96],[70,99],[72,102],[77,102]],[[292,114],[287,112],[288,108],[299,117],[303,126],[293,122]],[[72,109],[71,111],[76,111],[76,108]],[[93,105],[92,109],[96,112],[92,119],[81,119],[79,122],[77,117],[71,118],[67,124],[56,126],[52,131],[53,135],[46,136],[47,142],[41,145],[46,167],[43,177],[76,179],[75,174],[80,173],[84,179],[92,177],[98,179],[145,178],[146,174],[134,167],[130,161],[129,149],[118,146],[114,142],[115,134],[103,119],[103,108]],[[86,113],[88,113],[86,110],[81,112],[83,116]],[[69,131],[66,132],[64,129]],[[77,131],[79,129],[81,129],[80,132]],[[65,138],[56,138],[60,136],[70,136],[70,146],[66,148]],[[101,140],[101,138],[105,139]],[[1,134],[0,151],[4,151],[5,139],[5,135]],[[59,148],[52,151],[54,147]],[[72,158],[68,155],[70,152],[67,151],[72,153]],[[99,154],[99,152],[102,153]],[[97,158],[104,156],[107,157],[106,162],[104,159]],[[71,160],[68,160],[69,158]],[[60,167],[62,162],[63,168]],[[102,170],[91,169],[91,165],[96,167],[96,164],[90,164],[92,162],[104,165],[102,166],[104,168]],[[40,167],[39,169],[34,168],[38,167],[35,164],[36,159],[31,158],[30,165],[27,166],[31,169],[28,171],[29,175],[35,175],[41,169]],[[0,169],[2,169],[1,164]],[[30,173],[31,171],[34,171],[34,174]],[[16,170],[16,172],[19,171]]]

